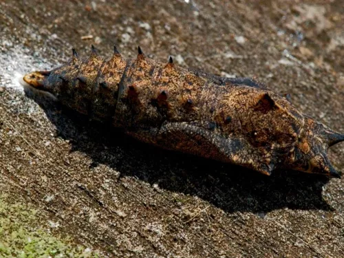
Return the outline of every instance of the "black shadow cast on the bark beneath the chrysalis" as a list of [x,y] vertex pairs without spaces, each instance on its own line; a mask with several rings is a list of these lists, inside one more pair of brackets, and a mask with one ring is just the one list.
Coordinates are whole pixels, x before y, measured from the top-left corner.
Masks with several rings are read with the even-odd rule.
[[200,197],[227,213],[261,216],[280,208],[332,210],[322,196],[327,177],[290,170],[266,177],[242,166],[161,150],[125,136],[122,129],[109,130],[104,122],[90,121],[29,87],[25,94],[43,108],[57,137],[92,160],[89,169],[105,164],[120,173],[117,181],[129,176],[159,184],[167,191]]

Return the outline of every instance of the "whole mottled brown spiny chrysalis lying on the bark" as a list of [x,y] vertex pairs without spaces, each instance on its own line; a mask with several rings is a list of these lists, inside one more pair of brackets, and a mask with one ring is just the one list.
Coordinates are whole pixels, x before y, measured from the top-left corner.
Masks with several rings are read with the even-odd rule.
[[92,45],[26,83],[94,120],[164,149],[229,162],[266,175],[294,169],[340,177],[327,149],[344,135],[302,114],[282,96],[250,78],[224,78],[159,63],[138,47],[125,60],[114,46],[108,60]]

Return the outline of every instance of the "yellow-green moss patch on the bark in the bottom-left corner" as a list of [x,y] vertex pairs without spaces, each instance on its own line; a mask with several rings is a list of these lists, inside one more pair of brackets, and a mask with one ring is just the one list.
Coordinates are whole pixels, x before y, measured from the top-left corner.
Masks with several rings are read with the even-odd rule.
[[37,211],[25,204],[10,204],[0,195],[0,257],[100,257],[98,252],[54,237],[39,225]]

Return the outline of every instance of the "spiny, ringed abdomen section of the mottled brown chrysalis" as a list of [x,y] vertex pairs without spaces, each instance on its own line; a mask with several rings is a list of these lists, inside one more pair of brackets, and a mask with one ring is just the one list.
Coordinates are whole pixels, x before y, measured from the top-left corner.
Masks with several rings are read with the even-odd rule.
[[92,48],[91,56],[84,61],[74,52],[66,65],[52,71],[48,84],[67,107],[96,120],[113,120],[116,127],[197,121],[211,128],[219,115],[215,114],[220,105],[217,96],[228,92],[228,87],[219,85],[248,80],[228,81],[195,73],[175,67],[171,58],[162,64],[142,52],[136,60],[126,61],[115,49],[114,55],[104,61]]

